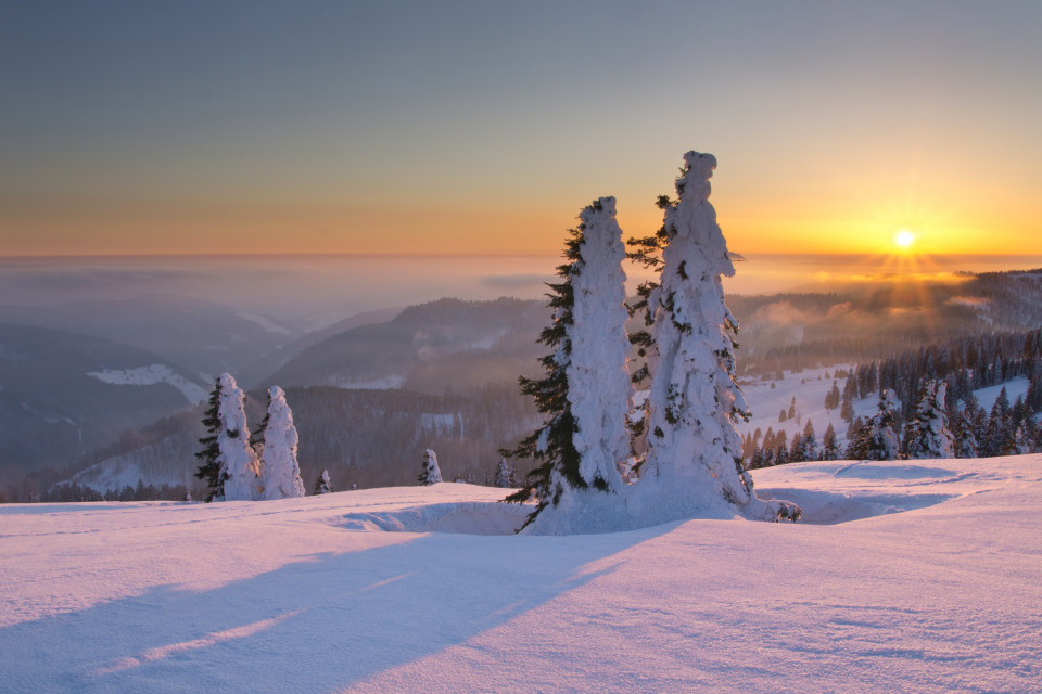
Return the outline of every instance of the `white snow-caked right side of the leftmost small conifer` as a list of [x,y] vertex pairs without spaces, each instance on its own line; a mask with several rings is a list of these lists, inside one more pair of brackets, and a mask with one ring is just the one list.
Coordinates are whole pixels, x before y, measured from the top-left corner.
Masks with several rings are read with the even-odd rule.
[[218,417],[220,430],[217,446],[220,449],[220,466],[225,474],[225,499],[227,501],[256,501],[259,493],[259,465],[257,454],[250,446],[246,413],[243,411],[242,390],[231,374],[220,374],[220,402]]

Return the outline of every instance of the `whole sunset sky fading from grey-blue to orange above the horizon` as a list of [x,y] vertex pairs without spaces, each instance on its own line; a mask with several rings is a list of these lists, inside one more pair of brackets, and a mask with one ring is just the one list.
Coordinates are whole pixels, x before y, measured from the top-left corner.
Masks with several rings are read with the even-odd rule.
[[1038,253],[1042,2],[0,0],[0,256]]

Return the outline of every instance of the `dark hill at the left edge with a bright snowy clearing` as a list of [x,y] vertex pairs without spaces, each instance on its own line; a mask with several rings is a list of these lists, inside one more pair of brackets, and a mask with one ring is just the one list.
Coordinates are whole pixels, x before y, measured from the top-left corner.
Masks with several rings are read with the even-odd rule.
[[205,398],[209,384],[107,339],[0,324],[0,470],[64,467]]

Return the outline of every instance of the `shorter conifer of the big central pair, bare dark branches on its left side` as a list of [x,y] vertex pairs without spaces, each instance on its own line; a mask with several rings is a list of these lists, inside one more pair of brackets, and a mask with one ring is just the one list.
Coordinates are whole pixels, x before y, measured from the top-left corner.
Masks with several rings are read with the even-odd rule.
[[[541,360],[546,377],[520,380],[546,422],[506,452],[542,463],[507,498],[523,502],[535,496],[537,505],[525,526],[545,526],[533,527],[536,532],[567,531],[593,511],[589,494],[622,492],[620,470],[631,457],[625,246],[615,198],[594,201],[580,213],[580,221],[569,230],[567,262],[557,269],[562,281],[549,284],[554,318],[539,335],[539,342],[554,349]],[[547,518],[548,506],[555,507],[550,515],[556,519]]]

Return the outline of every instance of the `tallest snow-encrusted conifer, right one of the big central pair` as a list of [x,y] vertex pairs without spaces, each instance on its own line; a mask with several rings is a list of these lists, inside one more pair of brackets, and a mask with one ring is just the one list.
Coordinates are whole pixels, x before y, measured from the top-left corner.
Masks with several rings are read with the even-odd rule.
[[706,507],[722,498],[752,517],[795,519],[796,506],[755,497],[741,464],[735,419],[749,412],[735,383],[732,335],[738,324],[724,305],[721,283],[735,268],[709,203],[716,159],[688,152],[684,163],[678,200],[662,205],[661,282],[649,294],[653,349],[640,485],[656,486],[662,503]]

